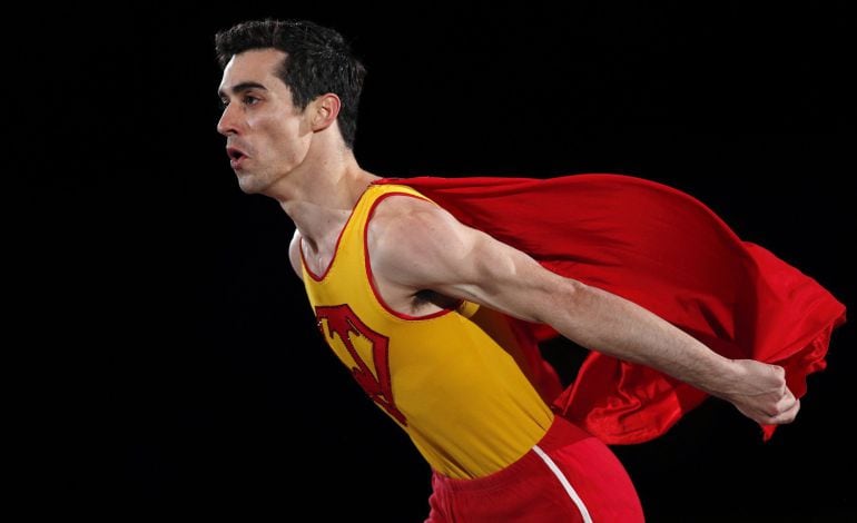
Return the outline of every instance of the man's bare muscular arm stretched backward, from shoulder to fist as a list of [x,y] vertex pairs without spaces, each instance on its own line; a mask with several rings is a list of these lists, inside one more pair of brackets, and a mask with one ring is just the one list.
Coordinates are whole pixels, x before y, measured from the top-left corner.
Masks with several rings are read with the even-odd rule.
[[584,347],[727,399],[759,423],[788,423],[797,415],[799,402],[781,367],[720,356],[647,309],[551,273],[433,204],[388,198],[372,230],[373,270],[394,286],[431,289],[549,324]]

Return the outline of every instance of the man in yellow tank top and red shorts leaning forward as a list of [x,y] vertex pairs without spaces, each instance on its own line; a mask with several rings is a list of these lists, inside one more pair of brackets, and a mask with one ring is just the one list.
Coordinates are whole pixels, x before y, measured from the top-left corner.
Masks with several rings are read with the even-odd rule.
[[[434,471],[427,521],[642,521],[627,473],[590,433],[607,442],[613,434],[652,437],[683,411],[641,418],[627,404],[612,412],[610,394],[570,391],[555,414],[549,402],[559,389],[532,357],[526,325],[549,325],[598,351],[603,359],[589,368],[609,356],[657,369],[764,425],[797,415],[800,402],[782,367],[725,357],[618,294],[548,270],[509,245],[514,238],[500,241],[462,224],[466,206],[453,216],[455,201],[437,205],[443,182],[426,197],[414,187],[432,190],[432,182],[381,180],[362,169],[352,147],[365,71],[335,31],[306,21],[246,22],[217,36],[217,52],[225,103],[218,131],[240,188],[275,198],[294,220],[290,260],[323,335]],[[585,227],[568,227],[578,226]],[[829,310],[825,328],[797,336],[801,347],[826,349],[843,314]],[[602,385],[623,379],[600,376]],[[680,403],[672,387],[643,403]],[[608,414],[592,421],[584,413],[587,431],[567,420],[577,405],[598,402],[585,409]],[[643,434],[647,423],[657,428]]]

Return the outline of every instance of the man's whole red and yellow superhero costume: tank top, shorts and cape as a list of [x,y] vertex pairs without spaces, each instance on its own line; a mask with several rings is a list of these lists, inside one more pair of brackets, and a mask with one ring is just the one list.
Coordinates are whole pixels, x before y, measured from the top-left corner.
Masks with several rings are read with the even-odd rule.
[[[815,280],[660,184],[618,175],[373,184],[327,270],[314,275],[304,264],[304,283],[325,339],[436,471],[433,522],[450,514],[540,521],[571,513],[569,521],[591,521],[585,505],[595,521],[639,521],[633,486],[603,443],[656,437],[706,396],[595,352],[561,393],[538,352],[539,339],[555,335],[548,326],[467,303],[423,317],[391,310],[373,285],[366,250],[372,213],[391,195],[434,201],[550,270],[623,296],[720,354],[782,365],[798,397],[806,375],[824,368],[830,333],[845,320],[845,307]],[[545,401],[562,417],[554,418]],[[770,436],[772,427],[765,428]],[[522,486],[520,474],[530,483]]]

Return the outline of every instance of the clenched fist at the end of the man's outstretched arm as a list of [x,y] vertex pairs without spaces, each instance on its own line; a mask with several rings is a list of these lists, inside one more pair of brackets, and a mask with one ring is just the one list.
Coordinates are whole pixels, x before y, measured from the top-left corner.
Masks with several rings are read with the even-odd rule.
[[762,425],[781,425],[795,421],[800,399],[786,386],[786,371],[753,359],[736,359],[741,379],[735,382],[729,401],[745,416]]

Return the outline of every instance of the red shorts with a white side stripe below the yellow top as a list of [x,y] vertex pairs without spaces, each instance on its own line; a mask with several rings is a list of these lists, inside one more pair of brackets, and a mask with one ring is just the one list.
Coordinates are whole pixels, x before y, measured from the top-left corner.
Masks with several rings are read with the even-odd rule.
[[555,416],[523,457],[475,480],[434,473],[426,523],[643,521],[624,467],[600,440]]

